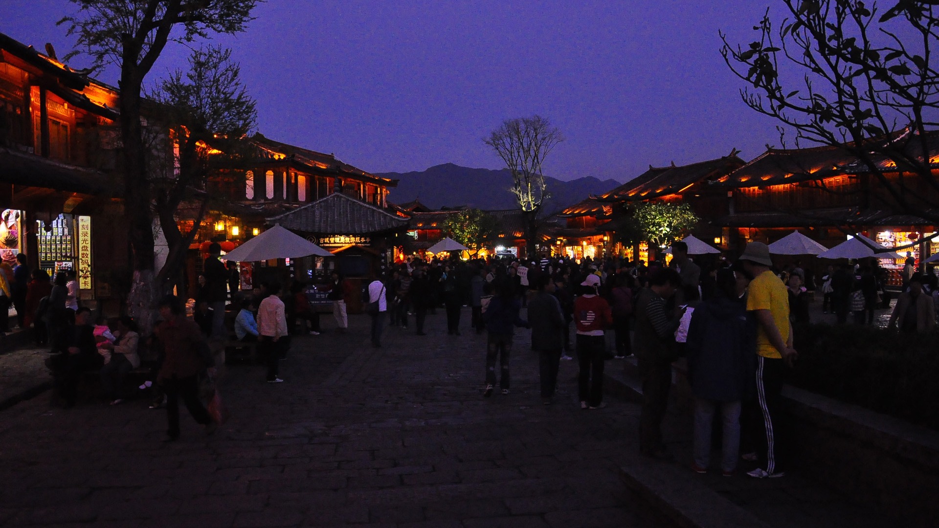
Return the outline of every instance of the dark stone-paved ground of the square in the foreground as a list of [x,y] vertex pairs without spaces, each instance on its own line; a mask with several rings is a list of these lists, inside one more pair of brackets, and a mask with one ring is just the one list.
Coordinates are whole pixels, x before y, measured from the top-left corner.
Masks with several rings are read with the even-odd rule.
[[618,477],[638,406],[581,411],[575,362],[542,405],[517,330],[512,393],[484,398],[484,336],[447,336],[442,310],[430,335],[390,328],[382,349],[351,319],[296,339],[285,383],[231,366],[232,419],[212,437],[183,410],[182,438],[162,443],[165,413],[143,399],[64,411],[45,393],[0,412],[0,525],[659,525]]

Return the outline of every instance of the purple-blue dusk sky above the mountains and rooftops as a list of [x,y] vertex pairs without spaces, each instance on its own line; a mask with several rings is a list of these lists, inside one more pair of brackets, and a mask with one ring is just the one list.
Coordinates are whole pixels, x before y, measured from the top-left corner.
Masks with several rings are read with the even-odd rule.
[[[482,138],[504,118],[540,114],[567,138],[546,175],[623,181],[650,163],[731,148],[749,160],[778,144],[775,122],[740,101],[718,53],[718,29],[745,43],[766,5],[269,0],[246,33],[216,40],[234,48],[272,139],[371,172],[501,168]],[[4,0],[0,32],[39,50],[52,42],[62,56],[73,40],[55,22],[72,9]],[[148,80],[186,54],[171,44]],[[115,84],[114,70],[99,77]]]

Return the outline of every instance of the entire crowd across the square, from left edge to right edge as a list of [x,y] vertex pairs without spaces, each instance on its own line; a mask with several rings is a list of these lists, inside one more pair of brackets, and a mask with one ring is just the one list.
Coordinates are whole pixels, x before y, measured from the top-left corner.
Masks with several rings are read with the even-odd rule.
[[[180,300],[168,297],[161,303],[162,322],[146,339],[159,350],[152,379],[161,390],[151,408],[166,406],[170,440],[179,434],[179,398],[198,423],[212,430],[196,392],[199,380],[215,364],[209,343],[232,338],[225,325],[231,271],[219,259],[217,246],[209,248],[192,318],[185,317]],[[37,344],[57,352],[51,361],[56,394],[65,406],[73,405],[79,374],[98,369],[104,396],[112,405],[119,404],[124,378],[141,364],[137,349],[145,339],[136,321],[123,317],[95,324],[90,310],[80,305],[73,273],[56,273],[50,281],[46,272],[30,271],[20,257],[20,265],[9,274],[0,270],[0,291],[23,308],[17,311],[18,324],[32,325]],[[671,246],[669,265],[617,258],[410,258],[387,272],[373,273],[362,290],[338,271],[318,287],[327,292],[339,333],[348,328],[348,304],[361,300],[371,318],[370,342],[376,348],[382,346],[386,327],[409,331],[411,318],[414,334],[426,335],[426,317],[439,309],[445,313],[447,334],[485,334],[485,397],[495,393],[497,383],[502,395],[510,394],[519,327],[531,329],[545,404],[555,401],[560,363],[576,357],[581,409],[604,408],[606,362],[635,355],[643,392],[639,449],[652,458],[670,458],[661,423],[672,363],[684,356],[695,396],[692,469],[707,471],[711,427],[719,413],[723,474],[733,474],[743,452],[759,466],[748,474],[775,477],[786,467],[787,429],[779,395],[798,356],[793,342],[798,343],[809,323],[808,290],[822,294],[823,311],[834,313],[838,322],[847,323],[853,312],[855,323],[870,324],[874,310],[888,303],[885,272],[875,259],[870,261],[829,266],[818,274],[803,270],[797,261],[777,270],[765,244],[751,242],[735,262],[696,263],[679,241]],[[24,276],[30,278],[25,286]],[[916,273],[911,265],[904,270],[904,280],[889,326],[928,332],[939,303],[936,276]],[[299,329],[320,332],[306,285],[293,281],[282,288],[266,283],[251,295],[233,296],[231,303],[237,314],[233,338],[256,342],[267,365],[266,380],[282,382],[279,365],[291,336]],[[463,314],[467,306],[469,321]]]

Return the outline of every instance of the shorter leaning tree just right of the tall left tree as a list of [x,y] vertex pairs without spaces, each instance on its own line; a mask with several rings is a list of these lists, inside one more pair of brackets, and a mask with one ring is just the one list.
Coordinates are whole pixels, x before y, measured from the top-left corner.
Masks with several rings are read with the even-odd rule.
[[[177,70],[162,80],[151,99],[162,105],[164,119],[178,145],[176,178],[153,182],[154,205],[169,254],[157,274],[157,285],[171,291],[195,233],[208,209],[209,179],[242,183],[237,165],[247,149],[243,138],[254,128],[254,100],[241,84],[239,65],[231,50],[208,47],[193,50],[187,72]],[[233,181],[237,180],[237,181]],[[177,225],[179,206],[194,202],[192,229]]]

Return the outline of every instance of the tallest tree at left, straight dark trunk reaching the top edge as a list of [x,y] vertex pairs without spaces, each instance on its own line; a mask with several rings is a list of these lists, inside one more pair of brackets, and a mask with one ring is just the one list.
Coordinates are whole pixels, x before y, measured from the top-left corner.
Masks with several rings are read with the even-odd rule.
[[211,33],[235,34],[252,20],[256,0],[70,0],[78,8],[59,21],[77,38],[93,68],[120,68],[119,164],[125,220],[133,251],[129,305],[142,322],[152,318],[154,297],[153,191],[142,116],[144,80],[168,42],[189,44]]

